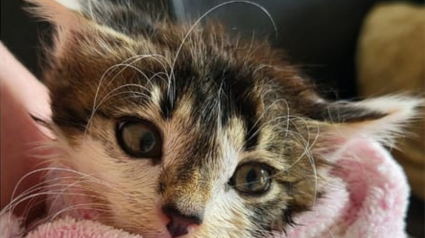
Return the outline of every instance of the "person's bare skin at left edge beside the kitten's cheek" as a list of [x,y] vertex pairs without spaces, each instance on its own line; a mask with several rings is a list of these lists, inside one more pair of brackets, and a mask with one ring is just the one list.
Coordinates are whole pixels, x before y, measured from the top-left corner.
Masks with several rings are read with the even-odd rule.
[[[50,107],[46,87],[40,83],[0,43],[0,85],[1,85],[1,209],[16,195],[29,191],[40,183],[43,173],[34,173],[18,185],[20,179],[36,168],[43,167],[36,144],[48,142],[49,136],[32,118],[49,119]],[[40,192],[40,191],[34,191]],[[34,193],[33,192],[33,193]],[[31,194],[28,194],[31,195]],[[42,197],[38,198],[42,201]],[[17,199],[19,204],[13,213],[24,215],[31,199]]]

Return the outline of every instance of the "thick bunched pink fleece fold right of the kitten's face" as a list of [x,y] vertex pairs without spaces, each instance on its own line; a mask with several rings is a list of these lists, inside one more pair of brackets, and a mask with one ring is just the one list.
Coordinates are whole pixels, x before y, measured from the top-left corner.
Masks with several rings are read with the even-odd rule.
[[288,237],[406,237],[409,187],[391,155],[375,142],[356,140],[332,160],[334,183],[313,211],[294,219],[300,226]]

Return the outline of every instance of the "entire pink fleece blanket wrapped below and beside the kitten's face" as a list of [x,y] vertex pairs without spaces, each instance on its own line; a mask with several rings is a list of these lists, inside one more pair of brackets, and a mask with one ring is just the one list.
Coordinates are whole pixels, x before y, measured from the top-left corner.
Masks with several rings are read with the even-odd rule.
[[[347,143],[333,158],[333,184],[312,211],[295,217],[297,226],[277,237],[401,238],[409,188],[402,168],[378,143]],[[19,219],[1,217],[1,237],[20,235]],[[28,238],[141,238],[92,220],[61,218],[40,225]]]

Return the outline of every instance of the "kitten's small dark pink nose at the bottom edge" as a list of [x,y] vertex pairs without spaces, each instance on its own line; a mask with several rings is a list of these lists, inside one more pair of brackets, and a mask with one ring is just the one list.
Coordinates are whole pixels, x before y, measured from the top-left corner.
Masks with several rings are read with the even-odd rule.
[[167,224],[168,232],[172,237],[180,237],[188,233],[188,226],[200,225],[202,223],[201,215],[186,215],[180,212],[174,205],[165,205],[162,211],[170,218]]

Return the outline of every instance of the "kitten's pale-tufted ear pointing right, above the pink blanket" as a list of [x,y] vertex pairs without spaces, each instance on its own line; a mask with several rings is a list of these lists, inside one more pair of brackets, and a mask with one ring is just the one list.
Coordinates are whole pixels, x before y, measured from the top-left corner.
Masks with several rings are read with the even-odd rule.
[[424,106],[425,100],[404,96],[360,102],[319,102],[310,116],[323,130],[319,132],[317,147],[339,147],[362,137],[388,145],[402,133],[404,126],[418,119],[418,112]]

